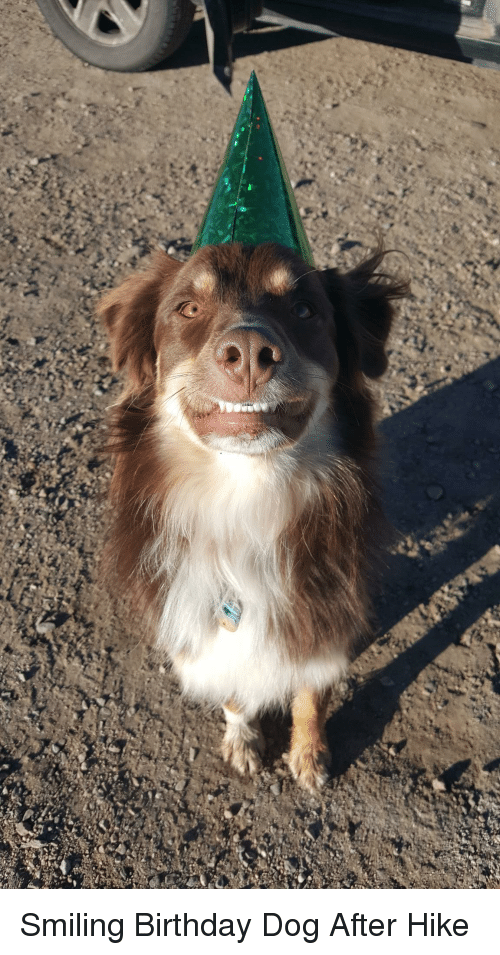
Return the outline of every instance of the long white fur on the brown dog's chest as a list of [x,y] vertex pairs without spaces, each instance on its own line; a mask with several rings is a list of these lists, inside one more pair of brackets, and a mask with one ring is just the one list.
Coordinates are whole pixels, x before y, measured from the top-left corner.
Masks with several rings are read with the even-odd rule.
[[[294,597],[283,531],[317,494],[300,457],[212,454],[207,467],[204,454],[197,468],[191,456],[184,475],[151,556],[156,573],[169,577],[157,646],[186,692],[214,705],[233,699],[252,716],[305,684],[331,685],[343,655],[296,663],[280,631]],[[242,608],[235,633],[217,623],[224,600]]]

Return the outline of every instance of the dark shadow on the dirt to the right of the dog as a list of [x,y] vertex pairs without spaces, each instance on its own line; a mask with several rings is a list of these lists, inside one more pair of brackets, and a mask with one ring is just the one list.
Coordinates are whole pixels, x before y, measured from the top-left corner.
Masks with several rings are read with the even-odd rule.
[[[385,597],[377,606],[379,635],[498,544],[499,399],[497,359],[383,422],[391,459],[386,511],[396,528],[428,539],[449,516],[463,533],[434,556],[389,559]],[[404,690],[499,596],[500,571],[482,577],[443,620],[345,699],[327,723],[333,776],[381,738]]]

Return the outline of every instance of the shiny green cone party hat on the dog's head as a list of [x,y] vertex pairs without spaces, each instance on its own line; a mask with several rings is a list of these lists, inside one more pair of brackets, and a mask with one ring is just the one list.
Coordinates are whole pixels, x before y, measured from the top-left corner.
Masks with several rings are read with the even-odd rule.
[[192,251],[223,242],[279,242],[314,265],[255,73]]

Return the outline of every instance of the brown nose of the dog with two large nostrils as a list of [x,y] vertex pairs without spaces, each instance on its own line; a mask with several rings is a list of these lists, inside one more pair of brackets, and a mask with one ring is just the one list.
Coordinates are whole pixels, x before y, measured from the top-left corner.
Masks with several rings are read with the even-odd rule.
[[237,328],[219,340],[215,360],[232,381],[244,385],[251,394],[258,385],[271,380],[283,354],[262,331]]

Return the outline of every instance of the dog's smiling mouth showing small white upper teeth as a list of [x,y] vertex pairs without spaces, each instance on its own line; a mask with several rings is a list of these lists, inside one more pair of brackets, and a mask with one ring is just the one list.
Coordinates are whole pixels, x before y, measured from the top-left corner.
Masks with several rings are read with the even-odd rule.
[[283,402],[210,401],[186,409],[192,427],[200,438],[258,437],[266,430],[279,430],[297,440],[313,411],[311,396]]

